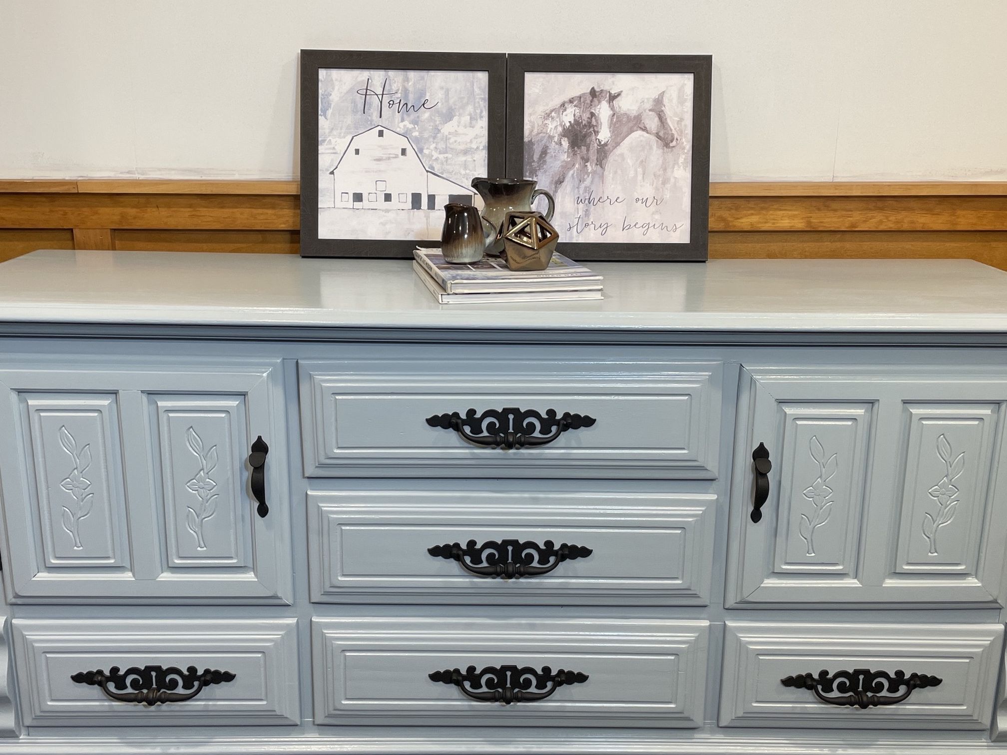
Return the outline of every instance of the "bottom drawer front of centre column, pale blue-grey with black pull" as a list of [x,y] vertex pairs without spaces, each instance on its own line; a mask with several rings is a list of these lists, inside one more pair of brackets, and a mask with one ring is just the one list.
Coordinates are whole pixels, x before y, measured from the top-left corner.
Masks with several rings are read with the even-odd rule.
[[[703,721],[705,621],[315,618],[311,627],[319,724],[695,728]],[[474,683],[469,666],[482,674]],[[561,670],[569,673],[557,686]],[[503,700],[475,699],[493,697],[494,675]]]

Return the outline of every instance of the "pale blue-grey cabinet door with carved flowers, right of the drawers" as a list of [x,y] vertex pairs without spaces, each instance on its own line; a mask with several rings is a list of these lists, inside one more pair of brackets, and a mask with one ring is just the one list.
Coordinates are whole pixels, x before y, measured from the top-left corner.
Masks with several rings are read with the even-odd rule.
[[728,605],[1003,605],[1007,381],[749,366],[741,382]]

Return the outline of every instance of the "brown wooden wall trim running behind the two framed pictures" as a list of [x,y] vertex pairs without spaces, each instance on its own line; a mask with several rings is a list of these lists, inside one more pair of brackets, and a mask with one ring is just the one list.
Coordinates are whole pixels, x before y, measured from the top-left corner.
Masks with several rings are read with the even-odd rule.
[[[297,254],[298,192],[297,181],[0,180],[0,261],[42,248]],[[713,183],[710,257],[1007,270],[1007,183]]]

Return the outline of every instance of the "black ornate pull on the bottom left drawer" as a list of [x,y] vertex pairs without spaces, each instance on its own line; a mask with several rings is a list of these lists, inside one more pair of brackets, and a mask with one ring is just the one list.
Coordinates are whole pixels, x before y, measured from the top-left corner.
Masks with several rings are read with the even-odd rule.
[[79,685],[100,687],[106,696],[120,703],[139,703],[153,708],[158,703],[192,700],[204,687],[234,682],[235,674],[215,668],[204,668],[199,672],[194,665],[184,671],[173,665],[167,668],[163,665],[145,665],[143,668],[134,665],[120,673],[119,666],[114,665],[108,673],[101,668],[97,671],[78,671],[70,680]]

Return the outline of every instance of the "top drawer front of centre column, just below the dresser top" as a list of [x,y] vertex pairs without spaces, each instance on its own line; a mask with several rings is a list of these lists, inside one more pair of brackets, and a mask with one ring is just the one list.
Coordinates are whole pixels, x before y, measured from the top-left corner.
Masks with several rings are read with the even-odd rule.
[[[712,478],[720,380],[719,362],[302,361],[304,472]],[[563,429],[550,411],[587,419]],[[470,412],[476,441],[448,427]],[[516,447],[479,445],[495,434]]]

